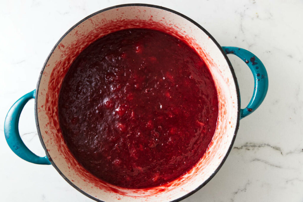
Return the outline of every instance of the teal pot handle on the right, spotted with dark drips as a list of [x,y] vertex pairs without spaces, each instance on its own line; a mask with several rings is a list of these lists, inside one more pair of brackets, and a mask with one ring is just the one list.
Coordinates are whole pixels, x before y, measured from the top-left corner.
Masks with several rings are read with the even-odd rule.
[[232,46],[222,46],[226,54],[234,54],[241,58],[250,68],[254,75],[255,88],[254,93],[247,107],[241,109],[240,118],[244,118],[255,111],[265,98],[268,90],[268,76],[261,60],[251,52]]

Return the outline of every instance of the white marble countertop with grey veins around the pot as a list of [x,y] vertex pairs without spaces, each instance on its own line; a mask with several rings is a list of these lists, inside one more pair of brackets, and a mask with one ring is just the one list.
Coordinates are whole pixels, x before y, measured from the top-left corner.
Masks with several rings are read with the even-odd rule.
[[[42,65],[58,39],[87,15],[123,3],[149,3],[192,18],[220,45],[256,54],[268,71],[264,102],[241,120],[225,164],[190,201],[303,201],[303,2],[294,1],[2,1],[0,6],[0,201],[93,201],[71,187],[52,166],[28,163],[8,147],[5,115],[32,91]],[[242,108],[253,78],[240,59],[235,68]],[[244,106],[245,105],[245,106]],[[34,101],[22,111],[20,134],[44,156],[35,128]]]

